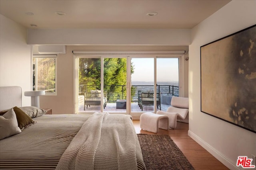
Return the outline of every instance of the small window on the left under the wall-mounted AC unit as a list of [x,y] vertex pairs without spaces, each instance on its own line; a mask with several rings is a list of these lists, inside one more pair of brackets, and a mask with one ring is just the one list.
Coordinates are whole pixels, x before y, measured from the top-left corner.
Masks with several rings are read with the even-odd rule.
[[56,95],[57,55],[33,55],[33,90]]

